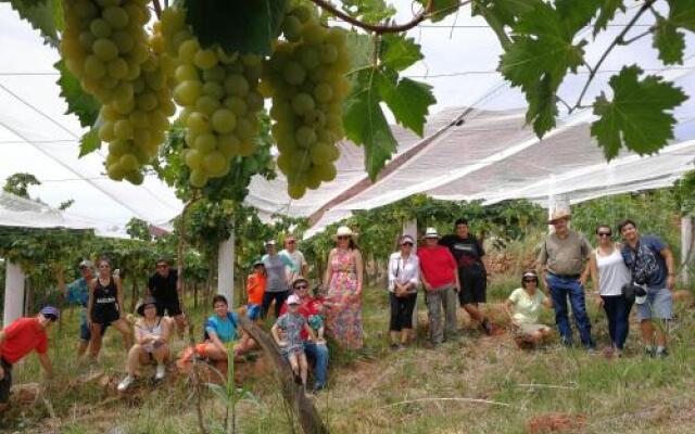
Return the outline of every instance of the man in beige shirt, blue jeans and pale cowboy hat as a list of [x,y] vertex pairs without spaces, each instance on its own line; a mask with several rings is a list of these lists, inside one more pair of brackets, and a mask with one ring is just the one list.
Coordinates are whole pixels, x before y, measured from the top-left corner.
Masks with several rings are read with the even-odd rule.
[[582,345],[591,353],[595,352],[591,339],[591,321],[586,315],[584,299],[585,264],[592,252],[586,238],[569,229],[571,214],[567,208],[555,209],[548,221],[555,232],[551,233],[541,245],[538,264],[545,284],[547,295],[553,298],[555,322],[563,344],[572,345],[572,329],[569,324],[567,298],[572,307],[574,323],[579,330]]

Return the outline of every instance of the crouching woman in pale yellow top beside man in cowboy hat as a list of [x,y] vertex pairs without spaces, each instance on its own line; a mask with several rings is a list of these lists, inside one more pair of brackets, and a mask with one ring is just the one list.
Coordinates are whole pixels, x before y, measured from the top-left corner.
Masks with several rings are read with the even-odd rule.
[[521,277],[521,288],[511,292],[504,302],[504,309],[511,318],[517,345],[538,346],[548,340],[553,330],[539,323],[542,306],[553,307],[553,301],[539,290],[539,277],[535,271],[526,271]]

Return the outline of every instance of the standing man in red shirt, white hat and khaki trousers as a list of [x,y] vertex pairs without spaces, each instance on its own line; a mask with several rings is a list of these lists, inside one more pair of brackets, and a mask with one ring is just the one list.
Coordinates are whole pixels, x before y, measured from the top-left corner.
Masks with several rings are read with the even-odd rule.
[[[456,337],[456,293],[460,291],[456,261],[450,250],[438,243],[437,229],[427,228],[425,245],[417,250],[432,347],[437,347],[444,341],[444,329],[446,329],[447,340]],[[444,324],[442,324],[442,306]]]

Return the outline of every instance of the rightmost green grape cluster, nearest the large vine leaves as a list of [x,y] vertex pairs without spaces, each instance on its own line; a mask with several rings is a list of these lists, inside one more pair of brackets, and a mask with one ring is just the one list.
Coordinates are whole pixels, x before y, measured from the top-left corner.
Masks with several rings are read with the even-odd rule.
[[278,167],[287,176],[288,193],[299,199],[307,188],[336,178],[350,60],[344,30],[321,26],[306,4],[285,16],[282,35],[265,63],[261,89],[273,98]]

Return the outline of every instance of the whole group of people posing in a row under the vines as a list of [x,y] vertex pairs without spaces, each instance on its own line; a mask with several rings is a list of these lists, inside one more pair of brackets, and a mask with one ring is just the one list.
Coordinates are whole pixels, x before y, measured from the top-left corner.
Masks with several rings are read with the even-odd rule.
[[[555,311],[560,342],[572,346],[569,299],[580,341],[589,352],[595,352],[585,297],[585,284],[591,279],[596,303],[604,308],[608,320],[610,352],[622,355],[634,303],[645,354],[666,357],[672,316],[671,291],[675,282],[673,255],[668,245],[658,237],[640,234],[633,220],[624,220],[617,227],[622,242],[614,241],[610,226],[601,225],[596,228],[596,248],[593,248],[583,234],[569,228],[570,218],[568,210],[554,213],[548,221],[554,231],[541,245],[538,268],[523,272],[521,286],[503,304],[517,342],[540,345],[552,336],[553,330],[539,321],[546,307]],[[340,227],[334,241],[323,291],[314,295],[304,277],[308,267],[296,248],[296,240],[288,237],[286,248],[280,252],[274,240],[267,241],[266,254],[253,264],[247,281],[245,312],[232,311],[228,301],[216,295],[213,315],[205,321],[203,342],[185,350],[180,360],[198,357],[226,372],[228,354],[242,356],[256,345],[241,331],[239,315],[260,321],[268,316],[275,303],[271,335],[298,380],[306,386],[308,367],[313,366],[313,391],[326,387],[329,350],[325,336],[343,348],[358,350],[364,345],[362,255],[349,227]],[[389,258],[391,347],[399,349],[413,341],[416,326],[413,314],[420,285],[429,318],[429,347],[438,347],[444,339],[458,339],[457,304],[482,332],[493,334],[496,326],[480,307],[486,302],[485,251],[482,242],[469,231],[468,221],[456,220],[454,233],[444,237],[434,228],[428,228],[417,253],[415,244],[412,235],[401,237],[399,250]],[[81,277],[70,284],[65,284],[62,272],[58,272],[59,286],[67,301],[81,306],[78,357],[97,358],[108,328],[121,332],[127,352],[127,374],[118,384],[122,392],[132,384],[142,365],[155,366],[156,380],[165,376],[166,363],[172,359],[173,333],[182,335],[186,327],[177,271],[164,258],[155,266],[147,295],[136,309],[139,318],[132,330],[123,309],[118,272],[111,269],[108,259],[99,260],[96,272],[89,260],[81,261]],[[12,366],[21,358],[36,350],[47,374],[52,373],[47,330],[59,317],[55,307],[46,306],[37,317],[21,318],[0,331],[0,410],[7,407]],[[653,318],[658,320],[657,327]]]

